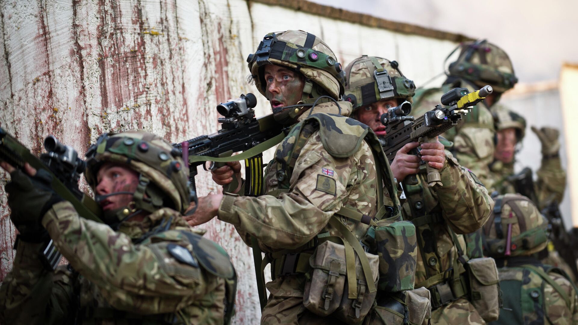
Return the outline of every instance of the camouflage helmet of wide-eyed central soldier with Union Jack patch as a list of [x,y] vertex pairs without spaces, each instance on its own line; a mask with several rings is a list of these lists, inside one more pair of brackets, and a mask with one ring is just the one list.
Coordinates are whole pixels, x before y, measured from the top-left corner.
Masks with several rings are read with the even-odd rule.
[[343,94],[345,73],[341,64],[329,46],[311,33],[269,33],[265,35],[257,51],[249,54],[247,62],[255,86],[264,96],[266,82],[262,67],[265,64],[282,65],[302,73],[307,79],[303,87],[303,99],[309,95],[317,98],[325,94],[339,99]]

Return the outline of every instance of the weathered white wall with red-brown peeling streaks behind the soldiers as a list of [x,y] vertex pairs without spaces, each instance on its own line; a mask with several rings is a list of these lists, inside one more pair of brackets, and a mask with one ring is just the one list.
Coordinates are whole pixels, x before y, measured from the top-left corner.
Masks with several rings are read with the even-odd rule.
[[[363,24],[335,18],[343,12],[334,18],[306,13],[296,10],[307,10],[302,0],[288,1],[301,6],[289,8],[261,2],[275,3],[0,1],[0,126],[36,154],[50,134],[80,154],[108,131],[139,128],[177,142],[216,131],[218,102],[257,94],[246,82],[245,58],[268,32],[310,31],[335,50],[343,65],[361,54],[398,60],[418,85],[442,71],[443,59],[460,39],[435,31],[407,34],[413,29],[389,28],[367,17],[358,17]],[[264,115],[268,106],[257,97],[257,114]],[[0,176],[2,280],[12,268],[15,230],[3,192],[9,176]],[[201,195],[219,190],[206,172],[197,184]],[[257,323],[250,249],[228,224],[213,220],[203,228],[228,250],[238,270],[235,322]]]

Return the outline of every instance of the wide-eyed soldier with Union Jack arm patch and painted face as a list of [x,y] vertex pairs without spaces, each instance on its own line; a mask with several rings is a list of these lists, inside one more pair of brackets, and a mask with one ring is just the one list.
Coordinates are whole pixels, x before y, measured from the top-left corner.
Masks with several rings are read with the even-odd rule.
[[[304,288],[311,285],[307,279],[310,257],[316,248],[328,245],[328,241],[336,242],[339,245],[332,247],[338,247],[339,252],[343,245],[350,245],[357,257],[365,258],[359,240],[369,224],[381,217],[399,215],[399,201],[383,150],[367,125],[346,117],[351,104],[335,100],[343,94],[344,73],[335,54],[320,38],[303,31],[271,33],[247,61],[255,86],[271,104],[275,120],[291,131],[267,165],[264,195],[201,197],[189,223],[201,224],[217,216],[234,224],[244,242],[251,245],[253,240],[253,245],[266,253],[273,280],[266,283],[271,295],[262,311],[262,324],[360,323],[373,302],[365,295],[372,293],[375,297],[373,279],[365,276],[357,285],[354,280],[349,294],[346,291],[343,296],[343,301],[348,301],[353,294],[353,300],[334,317],[321,315],[331,313],[325,311],[336,307],[334,302],[339,305],[341,298],[336,301],[335,296],[343,293],[343,282],[332,278],[340,277],[338,271],[329,276],[333,279],[328,284],[332,292],[321,298],[326,308],[323,304],[320,308],[306,306],[305,299],[312,300],[313,289],[307,290],[306,296]],[[239,172],[239,162],[231,162],[214,170],[213,180],[225,185],[233,178],[240,179]],[[345,247],[349,251],[349,246]],[[340,260],[341,253],[336,254]],[[335,267],[342,265],[336,263]],[[349,269],[354,262],[349,260],[347,265]],[[351,272],[346,274],[355,279]],[[372,269],[371,274],[376,276],[376,270]],[[333,287],[334,283],[341,285]],[[368,307],[361,310],[357,304]]]

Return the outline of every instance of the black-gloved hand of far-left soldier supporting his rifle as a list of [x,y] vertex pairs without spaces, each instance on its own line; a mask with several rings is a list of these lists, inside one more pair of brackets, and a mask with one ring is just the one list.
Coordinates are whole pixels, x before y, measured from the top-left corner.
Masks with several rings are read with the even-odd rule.
[[51,187],[52,177],[44,169],[28,176],[20,169],[10,173],[5,189],[8,205],[12,210],[10,219],[20,232],[20,238],[28,242],[41,242],[47,232],[40,223],[45,213],[56,203],[64,201]]

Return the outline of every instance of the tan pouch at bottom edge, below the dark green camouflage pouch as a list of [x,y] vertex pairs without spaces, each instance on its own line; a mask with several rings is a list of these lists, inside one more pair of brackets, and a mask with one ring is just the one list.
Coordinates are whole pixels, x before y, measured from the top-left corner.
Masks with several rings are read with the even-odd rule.
[[377,301],[366,325],[427,325],[431,319],[429,290],[425,287],[392,293]]

